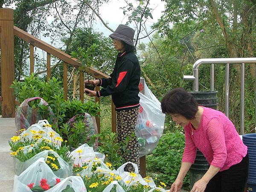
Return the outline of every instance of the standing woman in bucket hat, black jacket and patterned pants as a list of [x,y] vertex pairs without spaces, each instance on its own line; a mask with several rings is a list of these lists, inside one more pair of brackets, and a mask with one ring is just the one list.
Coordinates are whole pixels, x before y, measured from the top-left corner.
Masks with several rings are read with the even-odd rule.
[[[88,96],[112,95],[117,114],[117,140],[125,143],[125,138],[130,137],[125,154],[126,162],[136,163],[140,169],[139,143],[135,135],[135,123],[140,106],[138,85],[140,83],[140,64],[135,55],[134,30],[125,25],[119,25],[116,31],[109,35],[113,45],[119,51],[116,64],[108,79],[90,80],[91,84],[103,87],[99,91],[84,89]],[[124,152],[124,151],[123,151]],[[134,171],[131,164],[125,167],[125,171]]]

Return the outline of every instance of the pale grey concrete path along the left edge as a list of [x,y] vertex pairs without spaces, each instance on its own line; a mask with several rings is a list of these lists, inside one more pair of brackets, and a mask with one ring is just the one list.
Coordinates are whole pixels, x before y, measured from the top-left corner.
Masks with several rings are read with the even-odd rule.
[[13,191],[14,168],[8,140],[15,131],[14,118],[0,117],[0,192]]

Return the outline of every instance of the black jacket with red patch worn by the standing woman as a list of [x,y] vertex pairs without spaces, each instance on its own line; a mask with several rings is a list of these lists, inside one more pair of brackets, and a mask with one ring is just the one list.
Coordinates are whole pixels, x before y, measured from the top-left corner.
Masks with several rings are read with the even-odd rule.
[[97,91],[97,96],[112,95],[116,111],[136,108],[140,105],[139,83],[140,64],[137,56],[133,52],[119,53],[110,78],[100,79],[100,86],[104,88]]

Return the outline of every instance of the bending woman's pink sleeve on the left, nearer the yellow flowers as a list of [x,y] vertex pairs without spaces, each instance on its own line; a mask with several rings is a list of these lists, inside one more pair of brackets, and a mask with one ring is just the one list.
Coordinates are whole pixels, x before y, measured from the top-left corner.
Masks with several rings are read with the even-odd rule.
[[196,146],[191,138],[191,133],[189,132],[189,128],[185,129],[185,148],[181,162],[195,162],[196,155]]

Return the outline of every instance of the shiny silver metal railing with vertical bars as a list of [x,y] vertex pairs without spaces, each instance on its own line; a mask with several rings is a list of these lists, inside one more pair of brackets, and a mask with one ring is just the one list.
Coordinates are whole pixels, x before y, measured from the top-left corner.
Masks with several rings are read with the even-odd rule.
[[[184,81],[193,81],[193,91],[199,90],[198,68],[202,64],[210,66],[210,90],[214,90],[214,64],[225,64],[225,114],[229,117],[229,67],[230,64],[240,64],[240,134],[244,134],[244,65],[254,63],[256,68],[256,58],[203,58],[193,65],[193,75],[183,76]],[[255,76],[256,87],[256,76]],[[255,108],[256,108],[256,88],[255,88]],[[256,110],[255,110],[256,126]]]

